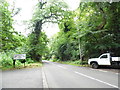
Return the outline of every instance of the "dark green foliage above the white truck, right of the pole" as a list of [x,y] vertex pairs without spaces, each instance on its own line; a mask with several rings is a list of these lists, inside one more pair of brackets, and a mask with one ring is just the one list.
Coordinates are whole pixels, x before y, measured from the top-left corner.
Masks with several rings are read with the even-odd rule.
[[[84,41],[85,53],[89,57],[97,57],[101,53],[112,52],[116,56],[119,55],[119,35],[115,35],[119,32],[119,4],[120,3],[83,3],[83,5],[89,6],[89,14],[86,12],[87,7],[82,11],[83,15],[88,14],[87,19],[83,19],[80,15],[80,22],[82,27],[80,28],[81,34],[83,33],[81,39]],[[115,6],[115,7],[114,7]],[[80,8],[82,5],[80,6]],[[114,10],[111,9],[114,7]],[[116,15],[116,16],[114,16]],[[112,20],[112,19],[115,20]],[[86,26],[84,26],[83,20],[87,21]],[[110,20],[110,21],[109,21]],[[118,20],[118,21],[117,21]],[[108,27],[109,25],[109,27]],[[113,26],[114,27],[111,27]],[[117,27],[117,28],[115,28]],[[113,30],[112,30],[113,29]],[[118,33],[119,34],[119,33]],[[114,38],[113,38],[114,37]],[[116,38],[116,41],[114,40]],[[94,46],[94,47],[93,47]]]

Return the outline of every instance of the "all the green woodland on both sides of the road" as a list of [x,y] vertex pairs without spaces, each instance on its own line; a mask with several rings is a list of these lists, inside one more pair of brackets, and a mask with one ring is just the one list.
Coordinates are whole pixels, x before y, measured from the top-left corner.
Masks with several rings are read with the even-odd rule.
[[[3,66],[12,65],[13,55],[22,53],[27,55],[28,63],[42,59],[87,61],[106,52],[120,56],[120,2],[81,2],[74,11],[60,0],[38,2],[29,20],[28,37],[13,27],[13,17],[19,14],[19,9],[8,7],[9,3],[1,1],[0,62]],[[42,31],[45,23],[57,23],[60,31],[48,39]]]

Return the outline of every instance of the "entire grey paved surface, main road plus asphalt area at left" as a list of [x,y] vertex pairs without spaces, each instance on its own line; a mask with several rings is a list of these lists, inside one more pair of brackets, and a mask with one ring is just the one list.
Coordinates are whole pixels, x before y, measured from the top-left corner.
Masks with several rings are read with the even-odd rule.
[[2,88],[112,89],[118,88],[118,73],[44,60],[42,68],[3,71]]

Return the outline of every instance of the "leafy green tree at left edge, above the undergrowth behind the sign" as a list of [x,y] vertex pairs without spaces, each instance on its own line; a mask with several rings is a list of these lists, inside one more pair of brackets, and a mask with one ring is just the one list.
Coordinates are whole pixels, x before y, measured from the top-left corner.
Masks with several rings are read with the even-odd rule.
[[8,9],[9,4],[6,1],[0,3],[0,47],[2,51],[14,50],[22,45],[23,36],[19,35],[12,26],[13,19]]

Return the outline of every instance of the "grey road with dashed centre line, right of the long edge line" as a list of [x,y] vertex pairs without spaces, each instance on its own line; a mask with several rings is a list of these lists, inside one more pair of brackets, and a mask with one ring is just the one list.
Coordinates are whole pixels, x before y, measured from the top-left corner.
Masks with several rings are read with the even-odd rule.
[[43,61],[49,88],[118,88],[118,73]]

